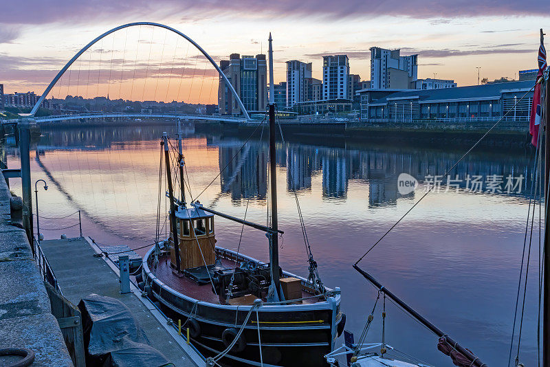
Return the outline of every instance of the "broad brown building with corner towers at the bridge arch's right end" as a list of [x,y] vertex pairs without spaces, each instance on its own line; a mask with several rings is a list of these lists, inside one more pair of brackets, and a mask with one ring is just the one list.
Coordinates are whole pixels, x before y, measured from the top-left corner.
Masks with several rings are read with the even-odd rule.
[[[221,71],[227,76],[247,111],[265,111],[267,107],[267,63],[265,55],[242,57],[231,54],[221,60]],[[225,80],[219,77],[218,108],[222,115],[241,115],[241,107]]]

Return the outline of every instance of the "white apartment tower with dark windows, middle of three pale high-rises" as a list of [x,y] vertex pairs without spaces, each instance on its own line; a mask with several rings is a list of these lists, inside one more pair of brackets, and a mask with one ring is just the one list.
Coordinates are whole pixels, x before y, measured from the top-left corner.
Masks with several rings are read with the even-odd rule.
[[349,58],[347,55],[323,56],[322,99],[350,99]]

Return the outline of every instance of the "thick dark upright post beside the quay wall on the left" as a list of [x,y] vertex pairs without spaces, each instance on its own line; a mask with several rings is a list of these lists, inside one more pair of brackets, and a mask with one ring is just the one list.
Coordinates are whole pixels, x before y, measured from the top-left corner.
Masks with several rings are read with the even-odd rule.
[[19,121],[19,153],[21,156],[21,189],[23,191],[23,227],[29,243],[34,238],[32,218],[32,189],[30,183],[30,130],[29,121]]

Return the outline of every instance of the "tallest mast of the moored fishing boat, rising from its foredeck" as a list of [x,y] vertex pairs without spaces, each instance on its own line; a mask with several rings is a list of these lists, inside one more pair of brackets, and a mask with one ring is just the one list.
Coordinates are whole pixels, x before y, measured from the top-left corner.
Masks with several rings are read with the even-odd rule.
[[[272,47],[272,38],[270,32],[270,47],[268,50],[270,58],[270,103],[269,103],[269,112],[270,112],[270,193],[271,193],[271,227],[275,232],[270,234],[271,248],[270,248],[270,263],[272,269],[272,281],[275,285],[275,294],[279,295],[280,282],[279,282],[279,246],[278,246],[278,236],[276,232],[278,231],[278,219],[277,219],[277,175],[276,175],[276,153],[275,153],[275,135],[276,135],[276,126],[275,126],[275,99],[274,99],[274,86],[273,86],[273,47]],[[277,297],[281,299],[281,297]]]

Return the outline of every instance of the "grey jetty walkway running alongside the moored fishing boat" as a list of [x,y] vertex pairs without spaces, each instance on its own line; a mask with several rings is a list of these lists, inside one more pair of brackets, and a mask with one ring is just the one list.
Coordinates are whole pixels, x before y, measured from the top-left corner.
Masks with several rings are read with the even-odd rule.
[[[146,307],[135,293],[119,293],[118,274],[109,267],[108,260],[94,257],[97,252],[93,246],[85,238],[41,241],[43,252],[64,296],[74,304],[78,304],[80,299],[91,293],[120,300],[132,311],[151,346],[164,354],[175,366],[197,366],[193,361],[199,360],[199,355],[190,346],[181,343],[183,339],[175,331],[170,333],[165,329],[166,322],[162,324],[155,318],[152,304],[149,305],[150,308]],[[174,334],[179,338],[179,343]]]

